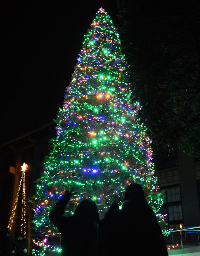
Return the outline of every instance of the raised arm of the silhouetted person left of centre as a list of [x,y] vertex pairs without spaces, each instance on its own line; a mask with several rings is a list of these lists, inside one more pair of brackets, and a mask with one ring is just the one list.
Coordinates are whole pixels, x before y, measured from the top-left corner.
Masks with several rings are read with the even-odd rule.
[[65,194],[60,198],[59,202],[56,203],[54,209],[49,214],[50,220],[53,222],[56,228],[58,228],[59,231],[61,231],[63,222],[66,219],[66,217],[63,217],[63,214],[65,207],[67,206],[72,196],[72,190],[70,192],[66,190]]

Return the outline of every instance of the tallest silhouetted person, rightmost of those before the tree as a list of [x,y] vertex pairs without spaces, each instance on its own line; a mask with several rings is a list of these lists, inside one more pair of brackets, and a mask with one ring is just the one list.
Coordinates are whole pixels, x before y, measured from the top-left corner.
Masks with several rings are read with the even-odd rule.
[[127,187],[122,212],[126,227],[123,237],[124,255],[168,255],[156,215],[148,205],[139,184],[133,183]]

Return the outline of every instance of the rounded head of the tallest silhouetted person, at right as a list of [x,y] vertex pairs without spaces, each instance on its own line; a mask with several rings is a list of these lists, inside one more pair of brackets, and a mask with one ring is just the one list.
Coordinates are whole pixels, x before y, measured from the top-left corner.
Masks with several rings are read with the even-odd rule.
[[126,191],[123,198],[123,201],[131,200],[131,201],[146,201],[144,191],[142,187],[138,183],[130,184]]

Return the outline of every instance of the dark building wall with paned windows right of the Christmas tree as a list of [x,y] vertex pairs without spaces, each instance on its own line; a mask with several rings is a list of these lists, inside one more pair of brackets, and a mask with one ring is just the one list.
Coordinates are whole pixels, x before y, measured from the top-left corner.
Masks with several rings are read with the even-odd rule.
[[[181,226],[200,226],[200,161],[181,151],[168,157],[166,152],[157,148],[154,163],[158,185],[166,194],[161,212],[168,214],[169,227],[176,230]],[[174,236],[180,243],[178,233]],[[183,240],[185,243],[185,237]],[[192,240],[196,243],[197,234],[190,234],[186,240],[187,243],[192,243]]]

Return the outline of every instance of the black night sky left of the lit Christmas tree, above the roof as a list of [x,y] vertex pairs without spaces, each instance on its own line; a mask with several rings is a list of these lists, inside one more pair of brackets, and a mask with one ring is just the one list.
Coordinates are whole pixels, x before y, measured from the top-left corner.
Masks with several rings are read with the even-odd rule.
[[56,118],[100,7],[117,26],[114,0],[1,1],[0,144]]

